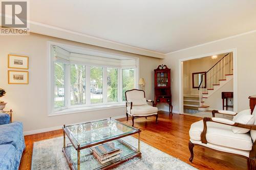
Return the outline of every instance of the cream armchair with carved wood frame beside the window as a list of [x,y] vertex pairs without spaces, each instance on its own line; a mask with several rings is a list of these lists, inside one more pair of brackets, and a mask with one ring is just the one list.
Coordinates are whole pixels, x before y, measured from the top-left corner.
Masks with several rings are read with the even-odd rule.
[[[143,90],[132,89],[125,91],[126,99],[126,116],[128,120],[128,115],[132,116],[133,126],[135,117],[148,117],[156,116],[156,123],[158,118],[158,109],[154,107],[154,101],[146,100],[145,92]],[[148,105],[147,102],[151,102]]]

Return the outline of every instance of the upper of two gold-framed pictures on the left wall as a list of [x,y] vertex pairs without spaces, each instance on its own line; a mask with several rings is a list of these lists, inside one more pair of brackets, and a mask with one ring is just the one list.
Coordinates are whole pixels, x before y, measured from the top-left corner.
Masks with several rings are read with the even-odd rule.
[[29,69],[29,57],[9,54],[8,68]]

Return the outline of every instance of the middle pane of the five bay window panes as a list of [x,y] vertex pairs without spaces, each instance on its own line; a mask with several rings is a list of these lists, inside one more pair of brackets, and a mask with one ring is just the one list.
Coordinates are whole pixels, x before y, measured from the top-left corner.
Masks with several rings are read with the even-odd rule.
[[102,103],[103,68],[91,66],[91,103]]

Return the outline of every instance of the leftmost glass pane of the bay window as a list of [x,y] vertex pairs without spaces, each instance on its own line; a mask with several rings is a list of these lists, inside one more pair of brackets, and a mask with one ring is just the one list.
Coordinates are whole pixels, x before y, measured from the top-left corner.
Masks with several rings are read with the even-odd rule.
[[54,108],[65,106],[65,64],[54,62]]

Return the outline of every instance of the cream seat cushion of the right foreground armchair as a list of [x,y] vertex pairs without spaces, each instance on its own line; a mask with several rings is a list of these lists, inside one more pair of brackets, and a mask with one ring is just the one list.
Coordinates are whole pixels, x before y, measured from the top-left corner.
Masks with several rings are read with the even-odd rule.
[[[192,124],[189,130],[190,138],[200,141],[203,127],[203,120]],[[232,132],[231,126],[213,122],[207,123],[206,140],[222,147],[244,151],[250,151],[252,147],[249,133],[235,134]]]

